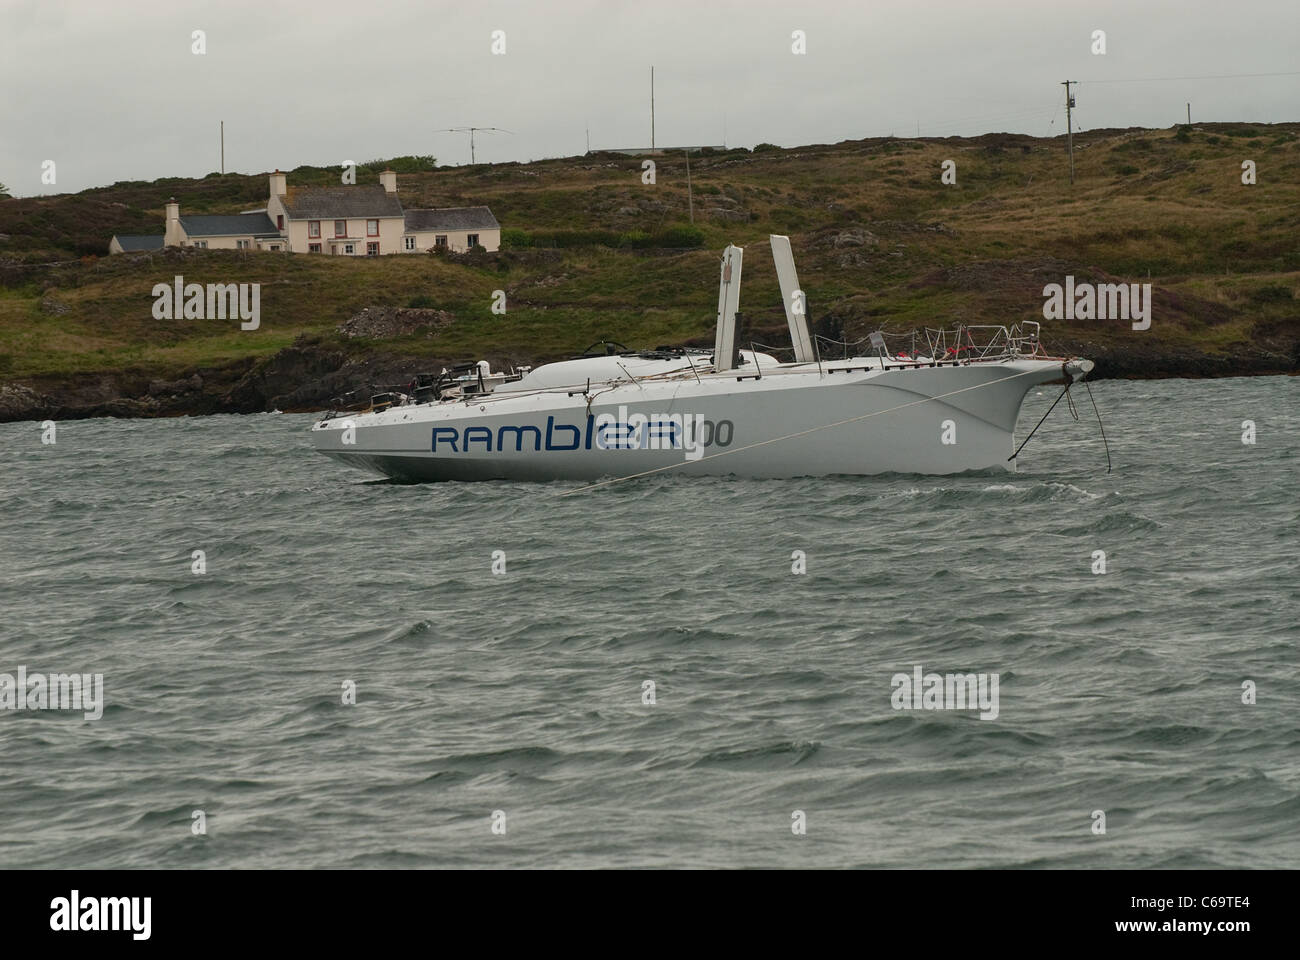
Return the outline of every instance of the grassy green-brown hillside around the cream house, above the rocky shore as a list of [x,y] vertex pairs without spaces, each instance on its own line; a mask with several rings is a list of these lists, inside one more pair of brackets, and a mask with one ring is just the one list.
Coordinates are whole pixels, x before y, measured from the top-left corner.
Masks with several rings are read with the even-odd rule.
[[[1253,186],[1240,182],[1248,159],[1257,165]],[[954,186],[940,182],[945,160],[957,164]],[[1072,273],[1149,280],[1152,329],[1044,323],[1049,345],[1139,358],[1249,350],[1275,356],[1277,369],[1296,364],[1300,124],[1092,131],[1075,138],[1074,186],[1063,138],[874,139],[694,156],[698,248],[646,246],[688,222],[680,156],[656,157],[654,185],[641,182],[640,157],[616,155],[445,169],[419,157],[402,164],[410,170],[399,176],[404,204],[486,203],[508,248],[370,260],[87,255],[103,254],[114,232],[161,233],[172,195],[188,213],[259,206],[265,176],[0,200],[0,381],[57,392],[62,379],[84,375],[178,377],[247,364],[295,341],[351,358],[517,360],[568,355],[601,337],[681,343],[712,328],[718,251],[728,242],[750,246],[741,298],[749,336],[780,345],[768,233],[790,235],[810,312],[828,334],[1041,319],[1044,284]],[[380,167],[359,169],[358,182],[374,182]],[[337,176],[303,168],[290,183]],[[599,233],[584,238],[581,230]],[[177,273],[190,282],[263,284],[261,329],[155,320],[151,289]],[[498,289],[507,294],[504,316],[490,312]],[[412,302],[455,320],[432,336],[382,342],[335,332],[365,306]]]

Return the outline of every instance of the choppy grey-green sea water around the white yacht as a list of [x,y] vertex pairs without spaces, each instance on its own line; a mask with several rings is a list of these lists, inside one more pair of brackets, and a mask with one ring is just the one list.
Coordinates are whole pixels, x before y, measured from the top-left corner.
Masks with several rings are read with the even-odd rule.
[[[0,425],[0,673],[107,700],[0,710],[0,866],[1296,866],[1300,380],[1092,389],[1110,475],[1080,393],[1018,473],[571,497]],[[916,665],[998,717],[893,709]]]

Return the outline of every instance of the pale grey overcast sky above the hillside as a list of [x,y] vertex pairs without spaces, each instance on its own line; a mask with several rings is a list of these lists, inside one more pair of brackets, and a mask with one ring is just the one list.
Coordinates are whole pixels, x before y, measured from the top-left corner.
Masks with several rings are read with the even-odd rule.
[[581,153],[588,127],[647,146],[651,64],[659,146],[1049,135],[1063,79],[1082,129],[1169,126],[1188,100],[1193,121],[1295,121],[1297,38],[1297,0],[0,0],[0,182],[202,177],[221,120],[240,173],[468,163],[438,133],[464,125],[512,131],[480,134],[480,163]]

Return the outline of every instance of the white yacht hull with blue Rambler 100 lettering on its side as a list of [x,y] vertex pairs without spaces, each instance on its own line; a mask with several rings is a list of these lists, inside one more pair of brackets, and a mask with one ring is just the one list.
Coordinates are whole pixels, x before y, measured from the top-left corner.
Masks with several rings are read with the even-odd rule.
[[[758,379],[753,366],[699,375],[688,367],[671,379],[498,390],[321,420],[312,438],[326,457],[404,481],[1014,470],[1008,458],[1026,393],[1091,368],[1030,358],[888,369],[876,358],[857,358],[764,368],[758,359]],[[602,432],[602,423],[637,415],[649,423],[676,415],[699,432],[670,425],[658,444],[668,449],[610,447],[621,434]]]

